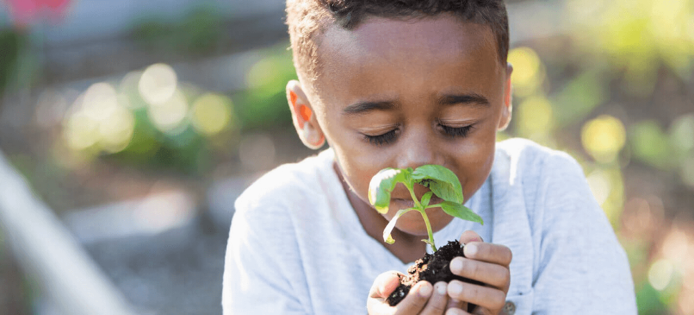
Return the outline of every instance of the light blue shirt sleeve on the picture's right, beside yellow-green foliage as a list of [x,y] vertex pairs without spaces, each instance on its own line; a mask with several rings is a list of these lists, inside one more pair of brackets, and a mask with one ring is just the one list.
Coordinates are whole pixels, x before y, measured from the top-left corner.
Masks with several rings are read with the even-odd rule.
[[625,251],[568,154],[549,158],[537,201],[545,208],[533,314],[636,314]]

